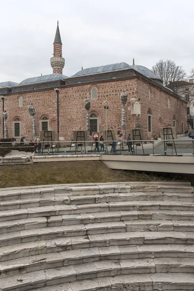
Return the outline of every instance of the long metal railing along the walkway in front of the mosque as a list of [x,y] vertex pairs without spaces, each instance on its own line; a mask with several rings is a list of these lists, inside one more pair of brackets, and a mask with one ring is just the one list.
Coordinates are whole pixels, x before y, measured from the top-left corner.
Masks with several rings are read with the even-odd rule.
[[[32,142],[16,143],[1,142],[0,148],[11,148],[21,150],[26,147],[28,151],[36,151],[37,154],[111,154],[111,155],[151,155],[151,156],[193,156],[194,157],[194,140],[130,140],[131,148],[127,146],[129,141],[104,141],[98,146],[95,141],[54,141],[40,142],[41,148],[32,146]],[[30,144],[30,146],[29,146]],[[103,151],[102,151],[103,149]],[[130,152],[129,152],[130,149]]]

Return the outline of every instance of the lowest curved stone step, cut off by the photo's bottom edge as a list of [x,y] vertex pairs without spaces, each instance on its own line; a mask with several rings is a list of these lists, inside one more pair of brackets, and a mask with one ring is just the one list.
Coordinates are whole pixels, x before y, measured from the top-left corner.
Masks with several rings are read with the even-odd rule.
[[194,290],[194,275],[185,273],[161,273],[118,275],[62,283],[34,289],[34,291],[191,291]]

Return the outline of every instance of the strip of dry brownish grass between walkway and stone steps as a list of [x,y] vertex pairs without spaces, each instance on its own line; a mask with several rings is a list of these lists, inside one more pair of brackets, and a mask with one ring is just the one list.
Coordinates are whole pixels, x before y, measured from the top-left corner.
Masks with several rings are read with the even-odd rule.
[[0,166],[0,188],[65,183],[186,180],[188,177],[168,173],[115,171],[100,161]]

